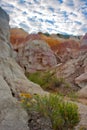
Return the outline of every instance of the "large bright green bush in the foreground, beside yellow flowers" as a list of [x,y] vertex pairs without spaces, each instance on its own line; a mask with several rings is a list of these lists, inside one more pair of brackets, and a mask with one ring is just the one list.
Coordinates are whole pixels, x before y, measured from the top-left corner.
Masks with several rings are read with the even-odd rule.
[[[29,105],[28,105],[29,104]],[[35,96],[34,99],[25,98],[23,106],[28,112],[38,112],[50,118],[54,130],[72,130],[79,122],[78,107],[71,102],[65,102],[58,95]]]

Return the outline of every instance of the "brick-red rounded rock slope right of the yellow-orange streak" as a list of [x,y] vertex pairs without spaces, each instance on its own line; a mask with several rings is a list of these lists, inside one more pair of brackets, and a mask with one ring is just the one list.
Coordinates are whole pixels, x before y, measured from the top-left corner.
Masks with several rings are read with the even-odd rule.
[[56,55],[61,58],[61,62],[66,62],[78,56],[79,42],[73,39],[68,39],[61,42],[56,51]]

